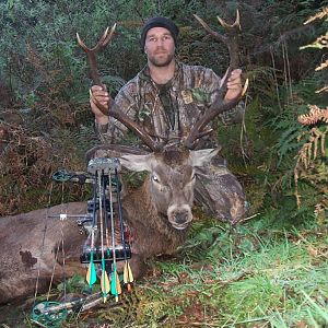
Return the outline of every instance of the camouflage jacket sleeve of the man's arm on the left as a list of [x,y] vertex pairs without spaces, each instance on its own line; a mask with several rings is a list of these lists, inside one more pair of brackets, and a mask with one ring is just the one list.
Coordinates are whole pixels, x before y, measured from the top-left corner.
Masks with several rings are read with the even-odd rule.
[[[130,81],[122,86],[115,97],[115,103],[120,110],[134,120],[136,113],[138,110],[136,83]],[[102,143],[120,142],[125,139],[127,133],[127,128],[113,117],[109,117],[109,122],[107,125],[95,124],[95,129]]]

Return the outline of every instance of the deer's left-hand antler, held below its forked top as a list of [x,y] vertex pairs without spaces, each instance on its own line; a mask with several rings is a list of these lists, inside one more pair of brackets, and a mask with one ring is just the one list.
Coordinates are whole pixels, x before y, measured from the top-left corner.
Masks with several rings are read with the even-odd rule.
[[[96,44],[96,46],[93,47],[92,49],[90,49],[85,46],[85,44],[82,42],[79,34],[77,33],[78,43],[83,48],[83,50],[86,52],[86,56],[87,56],[87,62],[89,62],[90,71],[91,71],[92,81],[94,84],[99,85],[99,86],[103,86],[103,84],[102,84],[99,73],[97,70],[96,54],[101,49],[103,49],[104,47],[107,46],[107,44],[109,43],[109,40],[113,37],[115,28],[116,28],[116,24],[113,25],[113,27],[110,28],[110,32],[108,34],[109,27],[107,27],[106,31],[104,32],[103,36]],[[94,98],[94,101],[96,102],[95,98]],[[99,104],[98,102],[96,102],[96,105],[102,110],[103,114],[109,115],[109,116],[116,118],[121,124],[124,124],[129,130],[131,130],[137,136],[139,136],[140,139],[152,151],[159,151],[160,149],[162,149],[162,145],[160,143],[155,142],[149,136],[149,133],[147,133],[140,126],[137,125],[137,122],[134,122],[132,119],[130,119],[130,117],[128,115],[126,115],[124,112],[121,112],[120,108],[118,108],[118,106],[114,102],[110,105],[110,110],[108,110],[107,108],[102,106],[102,104]]]

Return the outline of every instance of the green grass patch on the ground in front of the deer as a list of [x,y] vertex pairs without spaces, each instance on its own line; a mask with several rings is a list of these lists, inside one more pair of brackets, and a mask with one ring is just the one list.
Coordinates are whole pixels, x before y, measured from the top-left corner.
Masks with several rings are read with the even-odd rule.
[[328,327],[328,224],[285,226],[196,221],[132,294],[63,327]]

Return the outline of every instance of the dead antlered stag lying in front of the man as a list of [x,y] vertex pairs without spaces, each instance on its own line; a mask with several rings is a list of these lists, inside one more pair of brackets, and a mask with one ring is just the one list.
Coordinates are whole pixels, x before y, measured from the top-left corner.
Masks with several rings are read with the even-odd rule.
[[[226,36],[212,31],[200,17],[196,19],[215,39],[227,45],[231,57],[227,73],[212,106],[195,124],[188,136],[178,142],[167,140],[163,143],[152,139],[114,104],[107,114],[133,131],[149,151],[108,144],[95,147],[86,154],[86,159],[92,159],[105,153],[118,157],[126,169],[149,173],[139,188],[122,190],[122,212],[132,235],[130,263],[136,279],[144,274],[147,259],[160,254],[173,254],[186,241],[192,222],[191,209],[198,172],[220,151],[197,150],[197,140],[212,131],[206,130],[208,124],[220,113],[233,108],[247,89],[245,83],[239,97],[224,101],[230,72],[238,66],[235,40],[239,30],[238,12],[233,24],[219,19]],[[98,85],[102,83],[96,68],[96,52],[109,43],[114,30],[115,25],[109,33],[107,28],[93,49],[89,49],[78,35],[78,42],[89,58],[92,79]],[[85,211],[85,202],[65,204],[65,212],[68,213],[82,214]],[[59,212],[62,212],[62,206],[1,218],[0,304],[47,290],[49,280],[60,281],[63,271],[66,277],[83,274],[85,271],[79,261],[85,236],[81,235],[77,223],[71,220],[49,221],[49,213]]]

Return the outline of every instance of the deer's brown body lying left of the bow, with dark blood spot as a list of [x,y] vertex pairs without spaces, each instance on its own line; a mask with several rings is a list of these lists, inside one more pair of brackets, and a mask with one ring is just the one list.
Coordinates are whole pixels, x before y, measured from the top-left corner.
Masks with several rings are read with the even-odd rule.
[[83,272],[79,257],[85,236],[80,234],[74,221],[49,218],[62,212],[84,214],[86,203],[73,202],[0,218],[0,304],[32,297],[38,270],[40,292],[47,291],[55,265],[55,282],[62,280],[62,261],[56,256],[57,249],[61,249],[62,239],[65,276]]

